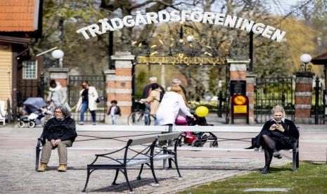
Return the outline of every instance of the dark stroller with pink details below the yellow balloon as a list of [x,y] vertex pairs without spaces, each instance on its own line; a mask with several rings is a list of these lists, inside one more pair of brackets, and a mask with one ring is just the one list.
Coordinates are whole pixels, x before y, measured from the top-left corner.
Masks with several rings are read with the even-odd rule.
[[[205,117],[198,117],[194,112],[191,113],[194,115],[195,120],[189,119],[189,126],[213,126],[213,124],[207,124]],[[182,139],[184,139],[184,144],[191,145],[192,147],[203,147],[206,142],[210,142],[210,147],[218,147],[217,136],[212,134],[212,132],[187,131],[181,134],[180,143]]]

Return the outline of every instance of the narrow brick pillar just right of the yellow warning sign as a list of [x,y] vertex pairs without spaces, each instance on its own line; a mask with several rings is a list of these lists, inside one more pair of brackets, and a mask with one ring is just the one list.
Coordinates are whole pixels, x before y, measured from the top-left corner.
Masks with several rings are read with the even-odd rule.
[[255,124],[255,74],[246,76],[246,96],[249,100],[249,124]]

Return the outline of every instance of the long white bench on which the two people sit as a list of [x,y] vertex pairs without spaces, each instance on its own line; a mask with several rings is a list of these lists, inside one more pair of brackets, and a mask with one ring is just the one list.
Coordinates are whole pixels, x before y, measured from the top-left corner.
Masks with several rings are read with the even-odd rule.
[[[134,132],[158,132],[158,133],[167,133],[167,132],[181,132],[181,131],[202,131],[202,132],[214,132],[214,133],[251,133],[251,137],[255,137],[261,131],[262,126],[239,126],[239,125],[219,125],[219,126],[173,126],[169,129],[168,126],[129,126],[129,125],[80,125],[77,126],[77,134],[79,131],[134,131]],[[78,141],[77,136],[77,141]],[[236,140],[236,139],[231,139]],[[249,144],[250,146],[250,144]],[[72,146],[68,150],[117,150],[117,146],[108,146],[108,147],[93,147],[93,146]],[[138,148],[136,148],[138,149]],[[171,149],[171,148],[169,148]],[[177,148],[178,150],[207,150],[207,151],[242,151],[242,152],[253,152],[260,151],[260,149],[245,149],[245,148],[198,148],[198,147],[189,147],[181,146]],[[36,148],[36,165],[35,169],[39,166],[39,153],[41,151],[41,139],[38,139],[37,148]],[[292,150],[287,150],[293,152],[293,171],[299,167],[299,141],[293,145]]]

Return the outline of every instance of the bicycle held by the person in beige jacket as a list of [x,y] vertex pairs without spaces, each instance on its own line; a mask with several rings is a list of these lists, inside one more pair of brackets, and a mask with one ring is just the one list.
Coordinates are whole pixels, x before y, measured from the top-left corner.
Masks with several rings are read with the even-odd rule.
[[135,101],[135,111],[127,117],[129,125],[154,125],[155,116],[150,115],[150,108],[142,101]]

